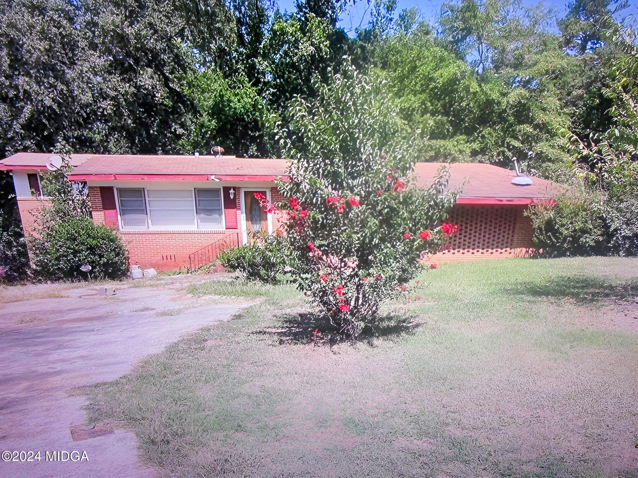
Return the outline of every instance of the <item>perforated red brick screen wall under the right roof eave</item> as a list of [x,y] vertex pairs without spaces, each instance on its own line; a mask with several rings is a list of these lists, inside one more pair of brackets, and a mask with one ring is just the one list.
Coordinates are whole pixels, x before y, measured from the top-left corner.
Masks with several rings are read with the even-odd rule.
[[497,257],[524,257],[533,252],[533,229],[522,206],[457,205],[447,219],[459,225],[450,249],[433,262],[472,261]]

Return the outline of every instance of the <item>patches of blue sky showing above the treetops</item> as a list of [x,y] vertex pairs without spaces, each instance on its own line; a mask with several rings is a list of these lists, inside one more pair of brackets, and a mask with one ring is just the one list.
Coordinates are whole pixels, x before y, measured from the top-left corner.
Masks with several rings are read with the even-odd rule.
[[[371,0],[373,1],[373,0]],[[538,1],[530,1],[524,0],[526,4],[537,4]],[[294,0],[279,0],[279,10],[284,11],[292,11],[295,9]],[[563,17],[565,12],[567,12],[567,0],[545,0],[545,6],[553,6],[554,9],[558,12],[558,17]],[[632,2],[630,2],[631,4]],[[404,8],[410,8],[411,6],[417,6],[422,11],[424,16],[429,20],[429,22],[434,22],[436,18],[439,17],[441,12],[441,4],[443,4],[443,0],[397,0],[397,12],[404,10]],[[625,11],[619,15],[620,18],[627,16],[628,14],[634,14],[638,17],[638,5],[630,6]],[[353,31],[356,27],[361,24],[362,26],[366,25],[370,19],[369,15],[369,6],[367,0],[358,0],[354,5],[351,5],[346,11],[345,15],[339,22],[339,26],[345,29],[346,31],[352,31],[350,35],[352,36]]]

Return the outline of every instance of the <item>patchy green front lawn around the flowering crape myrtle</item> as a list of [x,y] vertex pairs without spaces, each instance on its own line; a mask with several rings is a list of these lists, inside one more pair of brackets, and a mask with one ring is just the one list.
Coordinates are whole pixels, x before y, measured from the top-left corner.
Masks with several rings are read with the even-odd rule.
[[[176,477],[636,477],[638,259],[443,264],[357,345],[288,286],[115,382],[91,420]],[[301,315],[300,315],[301,314]]]

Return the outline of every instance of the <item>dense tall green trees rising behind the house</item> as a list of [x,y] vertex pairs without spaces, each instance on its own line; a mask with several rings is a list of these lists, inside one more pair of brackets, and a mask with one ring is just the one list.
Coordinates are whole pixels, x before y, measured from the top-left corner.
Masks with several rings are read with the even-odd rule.
[[[583,164],[600,170],[566,132],[585,143],[634,134],[623,132],[635,123],[635,37],[610,33],[626,31],[627,0],[574,0],[563,18],[523,0],[447,0],[434,22],[371,0],[352,37],[339,19],[356,2],[281,11],[276,0],[0,0],[1,154],[221,145],[280,156],[276,131],[299,98],[313,103],[346,68],[384,85],[419,161],[509,166],[516,156],[566,178]],[[627,144],[623,161],[634,164]],[[0,185],[9,211],[6,175]]]

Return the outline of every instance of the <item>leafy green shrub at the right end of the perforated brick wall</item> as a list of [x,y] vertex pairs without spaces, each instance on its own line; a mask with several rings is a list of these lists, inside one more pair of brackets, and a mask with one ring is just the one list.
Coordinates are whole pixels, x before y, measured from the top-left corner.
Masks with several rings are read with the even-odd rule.
[[531,218],[534,244],[544,256],[582,256],[604,250],[602,205],[596,194],[563,192],[554,203],[531,205],[525,214]]

